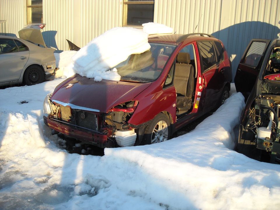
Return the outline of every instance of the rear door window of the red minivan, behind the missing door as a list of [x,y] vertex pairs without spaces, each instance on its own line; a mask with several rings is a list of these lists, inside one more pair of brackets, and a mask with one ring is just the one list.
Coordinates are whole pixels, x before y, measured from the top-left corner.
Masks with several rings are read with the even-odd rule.
[[217,58],[212,41],[199,41],[197,46],[202,60],[203,72],[217,64]]

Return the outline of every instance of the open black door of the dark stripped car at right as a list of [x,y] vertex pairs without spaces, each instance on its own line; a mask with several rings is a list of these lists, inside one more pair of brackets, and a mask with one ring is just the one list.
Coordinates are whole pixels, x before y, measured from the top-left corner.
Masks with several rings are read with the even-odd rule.
[[255,85],[263,57],[271,40],[252,39],[247,46],[234,77],[237,92],[248,95]]

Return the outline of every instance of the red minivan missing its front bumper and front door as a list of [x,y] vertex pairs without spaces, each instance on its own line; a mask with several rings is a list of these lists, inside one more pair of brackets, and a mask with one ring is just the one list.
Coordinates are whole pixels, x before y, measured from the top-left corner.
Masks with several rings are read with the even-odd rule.
[[208,34],[149,36],[150,50],[116,66],[120,81],[78,74],[44,101],[48,127],[95,146],[166,141],[229,97],[231,63]]

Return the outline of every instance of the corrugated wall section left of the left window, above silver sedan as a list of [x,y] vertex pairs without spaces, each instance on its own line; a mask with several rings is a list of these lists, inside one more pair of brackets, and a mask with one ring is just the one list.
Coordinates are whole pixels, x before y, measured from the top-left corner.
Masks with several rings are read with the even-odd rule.
[[0,31],[0,35],[18,37],[18,31],[26,25],[26,1],[0,0],[0,20],[7,20],[6,32]]

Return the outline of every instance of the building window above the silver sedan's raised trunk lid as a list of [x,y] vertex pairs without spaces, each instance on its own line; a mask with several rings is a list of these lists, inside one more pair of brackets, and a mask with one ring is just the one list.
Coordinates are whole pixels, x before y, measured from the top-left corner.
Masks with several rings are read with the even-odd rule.
[[43,23],[43,0],[27,0],[27,24]]

